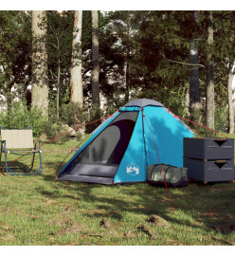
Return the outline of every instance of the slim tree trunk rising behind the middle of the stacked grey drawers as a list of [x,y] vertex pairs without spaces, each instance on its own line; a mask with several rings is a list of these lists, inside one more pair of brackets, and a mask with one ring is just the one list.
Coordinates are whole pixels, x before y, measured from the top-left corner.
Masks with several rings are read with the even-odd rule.
[[207,14],[207,126],[214,129],[213,23],[212,11]]

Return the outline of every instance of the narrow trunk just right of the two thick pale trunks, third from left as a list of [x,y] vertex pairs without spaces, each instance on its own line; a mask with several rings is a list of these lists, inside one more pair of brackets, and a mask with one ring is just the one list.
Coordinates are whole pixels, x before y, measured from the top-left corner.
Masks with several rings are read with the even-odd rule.
[[92,101],[99,108],[99,15],[91,10],[92,16]]

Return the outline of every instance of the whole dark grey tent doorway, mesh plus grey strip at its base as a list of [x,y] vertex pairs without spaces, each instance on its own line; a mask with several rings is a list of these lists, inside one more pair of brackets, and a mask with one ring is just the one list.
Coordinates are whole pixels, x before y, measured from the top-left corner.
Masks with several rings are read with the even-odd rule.
[[[113,179],[132,137],[137,116],[138,112],[120,113],[69,164],[66,172],[61,174],[60,179],[84,182],[93,182],[92,180],[99,177],[105,178],[105,182],[108,182],[107,178]],[[87,177],[92,177],[92,179]],[[94,182],[99,181],[96,180]]]

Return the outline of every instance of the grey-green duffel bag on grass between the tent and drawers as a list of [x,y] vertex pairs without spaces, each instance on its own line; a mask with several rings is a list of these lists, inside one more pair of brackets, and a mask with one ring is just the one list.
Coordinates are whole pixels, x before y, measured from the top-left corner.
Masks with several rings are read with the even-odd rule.
[[168,186],[181,187],[189,185],[187,168],[179,168],[166,164],[161,164],[161,166],[160,164],[152,164],[148,166],[146,168],[147,182],[164,184],[161,167]]

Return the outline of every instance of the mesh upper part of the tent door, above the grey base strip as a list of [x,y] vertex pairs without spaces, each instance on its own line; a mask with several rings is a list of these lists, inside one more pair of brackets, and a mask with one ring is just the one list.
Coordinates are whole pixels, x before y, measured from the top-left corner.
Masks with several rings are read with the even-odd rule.
[[132,137],[137,115],[138,112],[120,113],[71,165],[118,165]]

